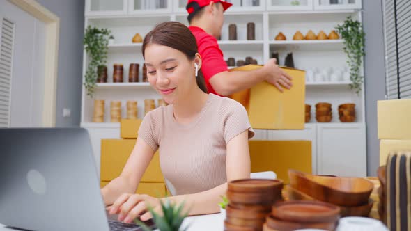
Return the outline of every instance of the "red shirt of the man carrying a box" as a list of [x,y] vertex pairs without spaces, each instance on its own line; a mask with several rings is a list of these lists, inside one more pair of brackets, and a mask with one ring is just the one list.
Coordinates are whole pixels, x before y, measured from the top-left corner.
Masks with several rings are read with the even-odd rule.
[[212,37],[212,35],[209,35],[203,29],[197,26],[189,26],[189,30],[192,31],[197,40],[199,54],[203,61],[201,65],[201,72],[203,72],[204,80],[206,80],[208,93],[218,95],[214,88],[212,88],[210,79],[215,74],[228,70],[227,63],[223,58],[223,52],[219,49],[217,39]]

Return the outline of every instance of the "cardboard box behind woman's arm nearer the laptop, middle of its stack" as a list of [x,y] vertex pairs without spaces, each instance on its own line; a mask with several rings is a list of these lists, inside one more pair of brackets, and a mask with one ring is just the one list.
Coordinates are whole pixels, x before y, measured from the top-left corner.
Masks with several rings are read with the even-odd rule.
[[[136,140],[102,140],[101,145],[101,180],[111,181],[123,170]],[[164,182],[160,170],[160,157],[155,152],[153,159],[144,172],[141,182]]]

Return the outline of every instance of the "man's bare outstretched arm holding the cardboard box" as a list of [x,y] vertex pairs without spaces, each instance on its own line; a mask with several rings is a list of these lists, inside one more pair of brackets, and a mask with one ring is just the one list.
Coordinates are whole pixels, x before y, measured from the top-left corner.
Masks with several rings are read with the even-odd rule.
[[272,58],[260,69],[251,71],[219,72],[210,78],[210,84],[216,93],[223,96],[251,88],[262,81],[271,83],[281,92],[283,87],[290,89],[292,78],[275,61]]

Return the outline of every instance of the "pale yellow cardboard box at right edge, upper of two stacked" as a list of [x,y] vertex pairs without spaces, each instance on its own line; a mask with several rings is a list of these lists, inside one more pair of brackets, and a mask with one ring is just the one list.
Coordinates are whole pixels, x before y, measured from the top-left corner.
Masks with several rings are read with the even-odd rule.
[[411,99],[378,101],[378,138],[411,140]]

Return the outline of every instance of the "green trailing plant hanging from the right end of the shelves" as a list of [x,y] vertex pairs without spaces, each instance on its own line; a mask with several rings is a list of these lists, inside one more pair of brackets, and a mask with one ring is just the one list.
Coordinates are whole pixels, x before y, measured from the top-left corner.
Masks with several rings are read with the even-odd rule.
[[336,26],[344,40],[344,52],[347,55],[348,67],[350,67],[350,87],[357,94],[361,91],[364,76],[361,73],[362,58],[364,52],[364,37],[365,33],[362,30],[362,25],[357,20],[352,20],[351,16],[347,17],[342,25]]

